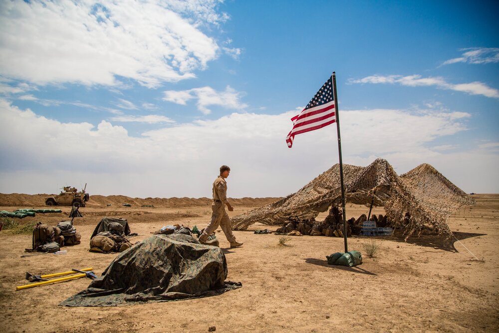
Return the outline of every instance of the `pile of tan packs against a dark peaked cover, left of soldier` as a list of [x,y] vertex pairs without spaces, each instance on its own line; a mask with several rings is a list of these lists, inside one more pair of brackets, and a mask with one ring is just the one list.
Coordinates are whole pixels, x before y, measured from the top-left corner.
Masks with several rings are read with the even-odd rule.
[[123,252],[132,247],[126,235],[130,235],[127,220],[105,217],[99,222],[90,238],[90,251]]

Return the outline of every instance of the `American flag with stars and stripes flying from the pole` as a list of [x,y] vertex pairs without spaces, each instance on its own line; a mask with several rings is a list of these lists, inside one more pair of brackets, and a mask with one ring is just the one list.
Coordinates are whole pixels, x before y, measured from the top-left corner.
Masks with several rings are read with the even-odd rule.
[[291,118],[293,129],[286,137],[289,148],[293,146],[294,136],[322,128],[336,121],[334,112],[332,76],[322,85],[300,114]]

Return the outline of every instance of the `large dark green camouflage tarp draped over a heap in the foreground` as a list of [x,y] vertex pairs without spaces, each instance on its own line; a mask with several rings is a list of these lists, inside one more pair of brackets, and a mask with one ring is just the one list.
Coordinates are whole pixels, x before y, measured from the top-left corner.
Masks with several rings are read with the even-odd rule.
[[119,306],[222,294],[241,287],[225,281],[222,249],[187,235],[153,235],[121,253],[88,288],[61,306]]

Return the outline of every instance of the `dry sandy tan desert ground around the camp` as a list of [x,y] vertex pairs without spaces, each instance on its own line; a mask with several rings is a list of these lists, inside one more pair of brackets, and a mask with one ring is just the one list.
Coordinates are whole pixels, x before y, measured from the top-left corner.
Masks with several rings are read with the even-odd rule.
[[[278,235],[236,231],[241,248],[231,249],[218,233],[229,267],[228,280],[243,288],[221,296],[125,307],[69,308],[58,304],[85,289],[79,279],[27,290],[25,272],[49,274],[92,267],[100,275],[116,254],[91,253],[89,237],[104,216],[128,219],[139,236],[150,236],[172,223],[204,227],[208,199],[132,199],[93,196],[74,225],[82,243],[65,247],[67,255],[20,258],[30,235],[0,232],[0,330],[2,332],[498,332],[499,331],[499,195],[474,195],[477,204],[449,219],[456,239],[434,235],[377,237],[375,258],[347,268],[327,265],[326,255],[343,251],[343,239],[292,237],[279,246]],[[275,199],[235,199],[235,216]],[[128,202],[132,207],[123,207]],[[107,206],[111,204],[111,206]],[[141,207],[152,204],[155,207]],[[0,194],[0,209],[47,208],[43,195]],[[21,224],[67,220],[62,213],[36,214]],[[368,208],[347,205],[347,217]],[[382,208],[375,210],[383,213]],[[320,215],[317,220],[324,218]],[[363,252],[371,237],[348,239],[349,250]],[[459,241],[457,241],[459,239]],[[466,249],[469,249],[471,253]],[[472,253],[474,255],[472,255]],[[364,253],[363,253],[364,254]],[[476,259],[476,256],[478,259]]]

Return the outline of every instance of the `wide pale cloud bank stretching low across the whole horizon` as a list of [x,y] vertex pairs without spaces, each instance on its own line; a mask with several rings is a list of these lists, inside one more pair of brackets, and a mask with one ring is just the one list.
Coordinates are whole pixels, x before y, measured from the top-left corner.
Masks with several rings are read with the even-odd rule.
[[[209,197],[212,178],[226,164],[230,196],[284,196],[338,159],[335,126],[297,135],[287,148],[295,114],[233,113],[133,137],[109,121],[61,123],[0,99],[0,192],[56,192],[56,184],[88,183],[90,194]],[[499,191],[497,151],[426,148],[466,130],[466,118],[385,109],[342,111],[341,117],[344,163],[367,165],[380,156],[403,173],[427,162],[465,191]]]

